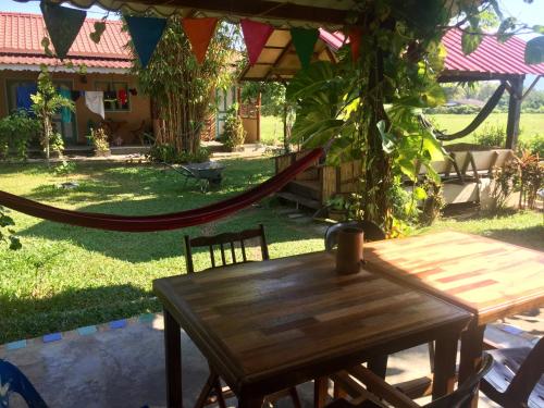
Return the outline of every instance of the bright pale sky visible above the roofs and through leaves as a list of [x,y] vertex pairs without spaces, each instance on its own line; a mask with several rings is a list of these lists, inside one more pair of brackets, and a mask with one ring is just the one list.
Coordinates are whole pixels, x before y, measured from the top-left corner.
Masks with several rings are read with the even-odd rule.
[[[533,25],[544,25],[544,0],[533,0],[531,4],[523,0],[499,0],[500,9],[505,16],[514,16],[518,21]],[[66,4],[67,5],[67,4]],[[16,11],[27,13],[40,13],[39,0],[32,0],[26,3],[20,3],[14,0],[0,0],[0,11]],[[90,18],[101,18],[107,11],[94,5],[88,10],[87,16]],[[109,14],[110,18],[118,18],[115,13]],[[521,36],[526,41],[532,36]],[[529,75],[526,85],[533,81],[534,76]],[[541,79],[537,89],[544,89],[544,79]]]

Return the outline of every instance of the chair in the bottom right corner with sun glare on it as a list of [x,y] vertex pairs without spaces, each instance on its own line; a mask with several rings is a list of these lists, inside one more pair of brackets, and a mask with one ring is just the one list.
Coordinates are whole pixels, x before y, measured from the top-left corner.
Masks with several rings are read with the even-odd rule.
[[544,406],[544,338],[529,347],[487,351],[494,358],[482,392],[503,407]]

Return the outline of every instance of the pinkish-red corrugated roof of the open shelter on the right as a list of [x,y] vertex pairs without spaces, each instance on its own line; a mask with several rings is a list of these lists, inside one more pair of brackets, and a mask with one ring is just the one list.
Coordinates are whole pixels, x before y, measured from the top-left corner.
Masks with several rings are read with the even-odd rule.
[[511,37],[500,44],[495,37],[485,36],[478,49],[465,55],[461,49],[461,32],[452,29],[442,39],[447,54],[445,69],[456,72],[475,72],[494,74],[544,74],[544,63],[528,65],[524,63],[526,41]]

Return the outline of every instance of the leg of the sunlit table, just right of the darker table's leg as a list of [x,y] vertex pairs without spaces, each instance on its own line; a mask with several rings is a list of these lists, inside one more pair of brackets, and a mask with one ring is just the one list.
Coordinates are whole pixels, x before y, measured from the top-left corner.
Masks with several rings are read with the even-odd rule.
[[[459,384],[462,384],[470,375],[475,373],[482,363],[484,332],[485,324],[477,325],[475,323],[470,323],[469,327],[461,334]],[[478,393],[472,400],[471,407],[478,407]]]

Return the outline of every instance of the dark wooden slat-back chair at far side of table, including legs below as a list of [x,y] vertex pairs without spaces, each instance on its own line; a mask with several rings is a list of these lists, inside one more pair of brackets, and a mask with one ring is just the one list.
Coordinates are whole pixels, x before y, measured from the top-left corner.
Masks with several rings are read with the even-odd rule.
[[[193,248],[209,248],[211,268],[209,268],[208,270],[215,270],[236,263],[249,262],[246,254],[246,242],[254,238],[259,238],[262,260],[269,260],[269,249],[264,235],[264,227],[262,224],[259,224],[259,227],[255,230],[245,230],[236,233],[223,233],[214,236],[200,236],[190,238],[188,235],[185,235],[185,262],[187,267],[187,273],[195,273],[195,265],[193,263]],[[236,257],[236,244],[238,244],[239,246],[242,258]],[[221,254],[221,264],[218,264],[219,262],[215,261],[214,247],[219,247]],[[231,263],[227,262],[226,254],[228,251],[231,252]],[[300,399],[295,387],[285,390],[274,395],[270,395],[267,397],[267,401],[272,404],[274,400],[286,395],[290,396],[295,407],[301,407]],[[213,369],[213,367],[210,366],[210,375],[208,376],[208,380],[206,381],[206,384],[202,387],[200,395],[198,396],[195,408],[202,408],[206,405],[215,403],[219,404],[220,408],[226,408],[225,398],[232,396],[234,396],[232,391],[228,387],[222,387],[219,374]]]

